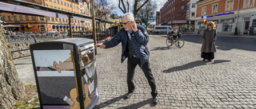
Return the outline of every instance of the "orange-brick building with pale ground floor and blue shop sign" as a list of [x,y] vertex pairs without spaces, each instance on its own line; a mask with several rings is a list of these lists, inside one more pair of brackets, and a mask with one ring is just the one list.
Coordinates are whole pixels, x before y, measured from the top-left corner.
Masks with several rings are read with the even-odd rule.
[[206,28],[203,22],[214,21],[218,33],[239,34],[256,30],[255,0],[200,0],[197,4],[195,33]]

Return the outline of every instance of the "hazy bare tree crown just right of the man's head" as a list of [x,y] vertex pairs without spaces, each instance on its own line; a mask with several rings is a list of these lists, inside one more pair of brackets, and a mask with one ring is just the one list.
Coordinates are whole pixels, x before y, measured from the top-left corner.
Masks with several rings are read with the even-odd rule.
[[157,3],[154,2],[146,2],[146,5],[142,7],[141,10],[138,10],[136,21],[140,23],[145,23],[146,27],[150,24],[150,21],[154,21],[155,19],[155,11],[157,10]]

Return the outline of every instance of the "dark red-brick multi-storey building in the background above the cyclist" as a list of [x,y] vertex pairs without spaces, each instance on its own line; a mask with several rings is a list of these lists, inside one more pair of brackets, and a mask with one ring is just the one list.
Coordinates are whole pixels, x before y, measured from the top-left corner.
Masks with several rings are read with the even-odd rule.
[[160,9],[160,24],[178,26],[185,29],[187,0],[168,0]]

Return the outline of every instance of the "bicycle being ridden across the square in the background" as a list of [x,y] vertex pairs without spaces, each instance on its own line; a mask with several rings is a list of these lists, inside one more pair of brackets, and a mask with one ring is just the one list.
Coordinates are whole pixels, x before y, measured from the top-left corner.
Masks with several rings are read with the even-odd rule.
[[182,33],[178,33],[177,37],[174,39],[173,34],[168,33],[167,34],[167,39],[166,39],[166,45],[168,47],[172,46],[172,45],[176,45],[178,48],[182,48],[185,44],[185,41],[182,38]]

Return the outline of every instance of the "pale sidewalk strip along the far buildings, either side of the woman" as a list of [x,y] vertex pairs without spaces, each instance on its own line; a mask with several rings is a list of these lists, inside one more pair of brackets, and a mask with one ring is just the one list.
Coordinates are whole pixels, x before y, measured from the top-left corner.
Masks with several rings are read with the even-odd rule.
[[[194,32],[182,32],[182,34],[190,34],[190,35],[202,35],[200,34],[194,34]],[[218,33],[218,37],[234,37],[234,38],[256,38],[256,36],[252,35],[232,35],[232,34],[225,34],[225,33]]]

